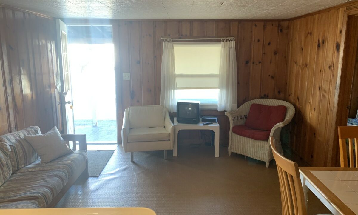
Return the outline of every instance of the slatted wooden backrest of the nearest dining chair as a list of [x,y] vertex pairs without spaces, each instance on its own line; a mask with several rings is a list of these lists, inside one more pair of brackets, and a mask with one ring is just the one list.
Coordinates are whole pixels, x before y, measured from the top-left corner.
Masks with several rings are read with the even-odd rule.
[[282,214],[307,215],[297,163],[290,161],[277,152],[273,137],[270,139],[270,144],[279,174]]

